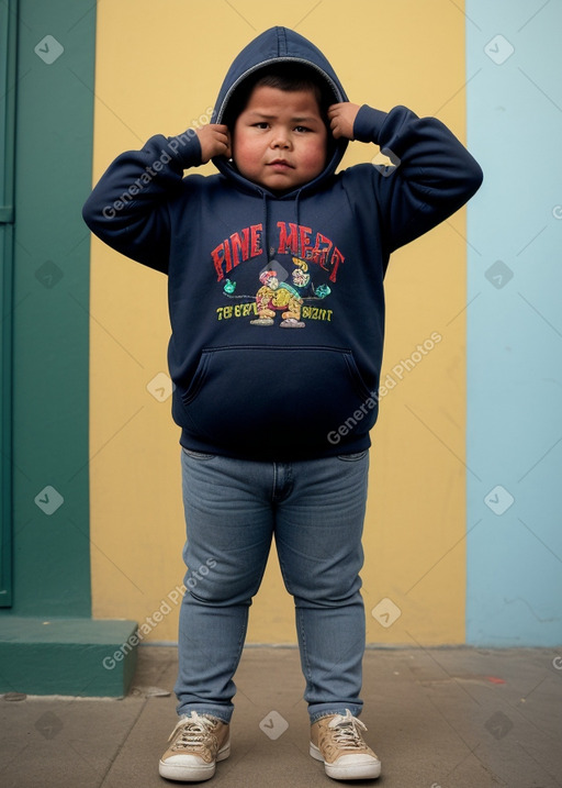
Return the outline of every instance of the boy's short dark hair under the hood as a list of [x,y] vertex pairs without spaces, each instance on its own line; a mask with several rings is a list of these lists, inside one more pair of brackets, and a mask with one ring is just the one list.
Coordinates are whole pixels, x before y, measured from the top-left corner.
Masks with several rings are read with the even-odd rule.
[[337,99],[328,82],[311,66],[295,63],[276,63],[271,66],[263,66],[244,80],[240,87],[234,91],[224,113],[223,123],[231,131],[234,131],[236,119],[246,109],[252,90],[262,86],[289,92],[311,90],[316,97],[322,119],[329,131],[327,110]]

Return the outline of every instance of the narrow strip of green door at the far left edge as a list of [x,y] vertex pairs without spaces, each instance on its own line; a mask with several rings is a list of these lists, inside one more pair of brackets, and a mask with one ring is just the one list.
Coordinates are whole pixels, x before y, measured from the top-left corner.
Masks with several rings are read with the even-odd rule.
[[0,607],[12,602],[12,230],[15,0],[0,3]]

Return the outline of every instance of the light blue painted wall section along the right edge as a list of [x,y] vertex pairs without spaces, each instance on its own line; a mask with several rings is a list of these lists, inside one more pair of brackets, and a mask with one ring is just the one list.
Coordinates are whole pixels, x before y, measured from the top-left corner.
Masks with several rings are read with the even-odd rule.
[[[485,178],[469,207],[467,641],[552,646],[562,644],[562,2],[467,0],[465,12],[468,142]],[[488,495],[496,486],[508,493]]]

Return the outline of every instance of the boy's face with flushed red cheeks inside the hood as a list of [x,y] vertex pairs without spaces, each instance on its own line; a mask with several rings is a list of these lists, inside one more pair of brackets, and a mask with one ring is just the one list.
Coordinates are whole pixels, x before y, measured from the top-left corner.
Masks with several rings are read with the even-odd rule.
[[236,120],[233,158],[245,178],[282,193],[322,173],[327,137],[312,90],[285,91],[261,85]]

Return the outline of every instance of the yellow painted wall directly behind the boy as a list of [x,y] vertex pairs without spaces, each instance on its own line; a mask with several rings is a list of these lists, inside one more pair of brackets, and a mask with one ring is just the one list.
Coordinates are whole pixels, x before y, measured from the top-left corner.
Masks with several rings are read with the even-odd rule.
[[[463,138],[462,2],[113,0],[98,5],[93,180],[122,151],[180,133],[213,107],[233,57],[274,24],[317,44],[350,100],[406,104]],[[344,165],[374,152],[352,143]],[[395,386],[372,435],[362,573],[373,643],[464,640],[464,235],[461,212],[396,253],[387,275],[383,377]],[[175,641],[184,530],[179,429],[170,400],[148,390],[167,369],[166,278],[94,238],[90,330],[93,614],[145,622],[161,608],[146,640]],[[435,348],[398,371],[434,332],[442,336]],[[384,599],[396,607],[376,607]],[[277,558],[251,609],[248,642],[295,642]]]

